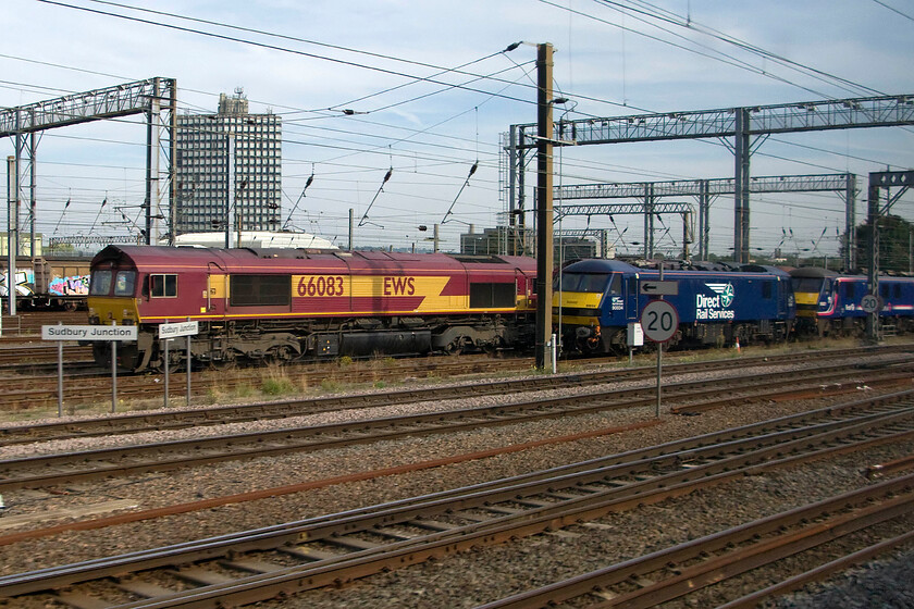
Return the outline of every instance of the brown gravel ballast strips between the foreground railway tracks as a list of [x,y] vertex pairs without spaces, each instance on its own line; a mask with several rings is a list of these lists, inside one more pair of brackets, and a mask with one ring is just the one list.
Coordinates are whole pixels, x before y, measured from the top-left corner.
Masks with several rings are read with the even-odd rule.
[[[764,369],[763,372],[770,372]],[[741,370],[745,374],[748,371]],[[708,374],[707,378],[721,373]],[[691,378],[690,378],[691,380]],[[665,382],[678,380],[670,376]],[[620,383],[619,388],[651,383]],[[585,388],[584,390],[591,390]],[[861,388],[861,395],[867,391]],[[567,393],[567,391],[561,391]],[[553,394],[549,391],[548,394]],[[454,402],[427,402],[419,407],[400,405],[390,409],[372,409],[370,415],[391,415],[419,408],[423,411],[456,407],[496,403],[532,398],[530,395],[503,398],[474,398]],[[187,514],[136,522],[103,530],[70,532],[24,543],[0,546],[0,573],[14,573],[54,564],[87,560],[158,547],[210,535],[254,529],[289,520],[319,515],[359,506],[381,504],[464,486],[485,480],[517,475],[608,453],[621,452],[676,438],[689,437],[726,427],[771,419],[827,403],[839,403],[854,396],[805,400],[802,402],[763,403],[753,407],[716,410],[700,417],[664,417],[660,425],[638,432],[598,436],[570,444],[547,445],[519,453],[503,455],[444,468],[418,471],[410,474],[380,480],[326,487],[307,493],[283,495],[239,505],[197,511]],[[383,414],[382,414],[383,412]],[[359,419],[369,414],[345,411],[257,424],[220,426],[215,430],[143,434],[140,436],[109,437],[102,439],[54,443],[54,446],[9,447],[0,458],[11,458],[38,450],[77,450],[79,447],[160,442],[186,437],[192,434],[208,435],[230,431],[254,431],[255,427],[275,427],[297,424],[317,424]],[[101,483],[86,483],[58,488],[60,495],[15,492],[4,496],[9,506],[7,514],[49,513],[74,505],[96,505],[113,499],[128,499],[136,509],[194,501],[201,498],[244,493],[298,482],[320,480],[368,469],[394,467],[404,463],[437,459],[507,446],[523,442],[575,434],[586,430],[613,427],[653,417],[653,409],[608,412],[579,417],[569,421],[542,421],[494,430],[481,430],[441,437],[408,438],[346,449],[316,453],[293,453],[282,457],[222,463],[148,474]],[[111,444],[109,444],[111,443]],[[30,451],[30,452],[29,452]],[[752,476],[726,486],[696,492],[688,497],[644,507],[622,514],[612,514],[594,524],[569,527],[554,534],[536,535],[509,545],[468,552],[447,560],[369,577],[342,589],[307,593],[282,602],[264,602],[270,608],[330,608],[330,607],[473,607],[529,587],[543,585],[559,577],[571,576],[605,567],[647,551],[681,543],[761,518],[792,507],[849,490],[866,484],[860,470],[872,463],[897,459],[914,451],[914,442],[886,446],[805,464],[789,470]],[[101,514],[107,515],[107,514]],[[30,527],[60,523],[47,521]],[[0,519],[2,524],[2,519]],[[912,522],[903,523],[910,527]],[[27,527],[25,527],[27,529]],[[22,531],[0,531],[0,535]],[[907,556],[910,559],[911,557]],[[881,566],[881,567],[880,567]],[[903,599],[912,598],[910,561],[881,560],[861,571],[853,571],[844,579],[851,582],[849,593],[829,585],[820,594],[840,595],[827,598],[845,598],[838,605],[818,600],[818,596],[792,595],[778,600],[778,607],[854,607],[854,594],[874,594],[881,607],[906,607]],[[881,574],[881,575],[880,575]],[[903,577],[902,577],[903,576]],[[899,577],[902,577],[899,580]],[[756,585],[746,584],[745,591]],[[761,580],[759,580],[761,581]],[[864,584],[873,583],[877,592],[867,593]],[[763,584],[764,585],[764,584]],[[878,587],[880,586],[881,587]],[[907,596],[905,596],[907,595]],[[716,600],[715,600],[716,598]],[[823,597],[825,598],[825,597]],[[720,598],[707,595],[691,600],[685,606],[707,606]],[[826,604],[819,604],[826,602]],[[902,602],[902,604],[896,604]]]

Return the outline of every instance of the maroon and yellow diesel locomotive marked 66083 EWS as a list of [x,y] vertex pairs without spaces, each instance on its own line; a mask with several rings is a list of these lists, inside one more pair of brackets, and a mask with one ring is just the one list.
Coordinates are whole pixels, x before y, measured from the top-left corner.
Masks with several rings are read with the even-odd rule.
[[535,274],[509,256],[112,245],[92,259],[89,323],[139,326],[118,348],[134,371],[183,365],[181,348],[163,361],[158,326],[188,319],[192,357],[212,366],[494,350],[532,344]]

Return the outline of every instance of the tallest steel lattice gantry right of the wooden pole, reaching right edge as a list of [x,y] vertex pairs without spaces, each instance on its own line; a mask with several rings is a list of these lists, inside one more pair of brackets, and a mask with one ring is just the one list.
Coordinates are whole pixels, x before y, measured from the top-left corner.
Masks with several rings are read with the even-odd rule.
[[[911,124],[914,124],[914,94],[559,121],[554,124],[554,144],[561,146],[573,141],[583,146],[724,138],[736,157],[734,252],[737,261],[745,262],[749,260],[749,159],[752,137]],[[535,128],[533,124],[511,125],[510,133],[505,137],[512,217],[523,213],[523,156],[528,149],[536,147]]]

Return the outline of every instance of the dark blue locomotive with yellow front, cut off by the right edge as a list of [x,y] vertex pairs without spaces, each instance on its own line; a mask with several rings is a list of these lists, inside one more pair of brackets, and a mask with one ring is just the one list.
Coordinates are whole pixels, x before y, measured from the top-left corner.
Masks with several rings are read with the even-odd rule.
[[[863,336],[867,313],[861,301],[870,293],[864,275],[815,266],[790,272],[796,297],[796,331],[816,336]],[[914,330],[914,277],[879,276],[879,319],[898,332]]]

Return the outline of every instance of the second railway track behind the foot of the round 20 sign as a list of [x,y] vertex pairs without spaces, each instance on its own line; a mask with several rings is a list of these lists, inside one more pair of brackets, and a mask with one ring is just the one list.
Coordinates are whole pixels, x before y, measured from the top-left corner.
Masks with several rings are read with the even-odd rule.
[[[863,348],[818,351],[815,353],[796,353],[789,356],[741,358],[741,366],[781,365],[795,362],[819,361],[827,362],[849,357],[864,358],[869,355],[903,353],[898,347]],[[437,359],[437,358],[435,358]],[[712,360],[695,363],[667,364],[667,374],[702,373],[714,370],[726,370],[733,365],[731,359]],[[897,363],[902,363],[903,359]],[[443,362],[447,364],[447,360]],[[486,362],[483,362],[486,363]],[[470,365],[477,365],[471,363]],[[520,363],[519,365],[523,365]],[[886,363],[885,365],[888,365]],[[415,369],[408,369],[415,371]],[[441,369],[437,369],[441,370]],[[316,371],[320,373],[320,371]],[[656,373],[654,368],[634,368],[598,370],[573,374],[535,376],[523,380],[474,382],[449,387],[412,388],[405,390],[388,390],[373,394],[351,396],[328,396],[311,399],[294,399],[236,406],[219,406],[193,410],[159,411],[143,414],[123,414],[118,417],[100,417],[81,419],[77,421],[40,423],[28,426],[0,426],[0,446],[45,442],[53,439],[71,439],[76,437],[94,437],[110,434],[132,434],[164,430],[177,430],[192,426],[212,426],[247,421],[283,419],[301,417],[326,411],[350,410],[356,408],[371,408],[398,402],[417,402],[430,400],[456,399],[468,396],[515,395],[544,389],[561,389],[598,385],[602,383],[619,383],[650,378]],[[183,391],[181,381],[176,381],[176,391]],[[9,402],[7,402],[9,403]],[[699,407],[693,407],[697,409]]]

